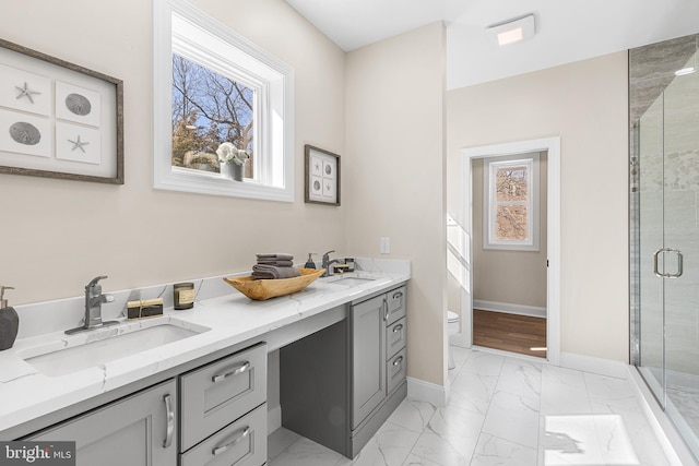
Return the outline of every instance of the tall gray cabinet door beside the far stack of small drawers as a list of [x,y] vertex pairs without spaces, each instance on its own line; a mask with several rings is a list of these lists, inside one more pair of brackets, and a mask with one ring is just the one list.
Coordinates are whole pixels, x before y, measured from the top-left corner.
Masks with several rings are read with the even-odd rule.
[[386,397],[384,296],[352,307],[352,429]]

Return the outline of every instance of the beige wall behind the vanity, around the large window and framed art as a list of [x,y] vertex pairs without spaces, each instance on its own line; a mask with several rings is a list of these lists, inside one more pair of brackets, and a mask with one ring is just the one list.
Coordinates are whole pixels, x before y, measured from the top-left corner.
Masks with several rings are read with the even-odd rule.
[[125,186],[0,175],[13,303],[79,296],[102,274],[116,290],[246,271],[256,252],[347,251],[345,207],[303,195],[305,143],[345,155],[345,53],[283,0],[193,3],[294,68],[295,202],[152,189],[150,0],[4,1],[2,38],[125,82]]

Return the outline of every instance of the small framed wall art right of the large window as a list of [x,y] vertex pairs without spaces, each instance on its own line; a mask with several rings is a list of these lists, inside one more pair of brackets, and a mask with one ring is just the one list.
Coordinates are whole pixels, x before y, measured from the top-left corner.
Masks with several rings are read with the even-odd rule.
[[306,144],[305,201],[340,205],[340,156]]

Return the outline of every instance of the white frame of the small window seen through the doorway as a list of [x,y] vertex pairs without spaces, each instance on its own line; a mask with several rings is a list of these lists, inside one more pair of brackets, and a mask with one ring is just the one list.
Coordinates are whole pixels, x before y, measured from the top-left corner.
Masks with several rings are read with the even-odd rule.
[[[526,166],[528,196],[526,240],[501,240],[496,237],[496,212],[498,205],[521,204],[518,202],[498,202],[496,200],[495,176],[499,168]],[[483,249],[509,251],[538,251],[540,240],[540,182],[538,153],[518,154],[503,157],[487,157],[483,163]]]

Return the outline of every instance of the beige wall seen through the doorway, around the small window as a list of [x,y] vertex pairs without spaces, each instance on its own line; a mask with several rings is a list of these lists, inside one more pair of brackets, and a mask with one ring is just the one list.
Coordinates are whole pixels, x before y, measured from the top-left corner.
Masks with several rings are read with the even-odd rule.
[[483,248],[484,160],[472,162],[474,300],[546,308],[546,153],[540,154],[538,251]]

